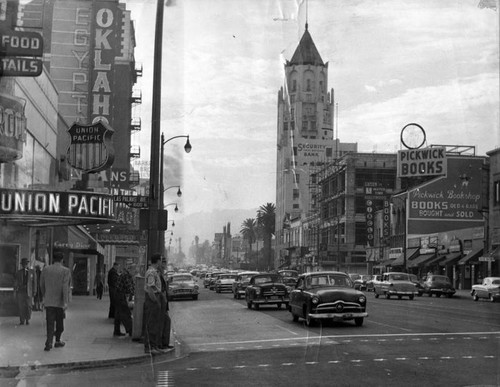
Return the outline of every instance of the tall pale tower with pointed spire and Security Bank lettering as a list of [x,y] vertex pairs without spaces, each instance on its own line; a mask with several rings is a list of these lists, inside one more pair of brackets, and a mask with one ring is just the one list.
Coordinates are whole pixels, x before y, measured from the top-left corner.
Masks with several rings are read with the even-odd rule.
[[276,266],[290,248],[285,232],[312,210],[313,172],[356,151],[357,144],[340,144],[334,136],[334,90],[328,89],[328,62],[323,62],[305,31],[285,65],[285,84],[278,92],[276,163]]

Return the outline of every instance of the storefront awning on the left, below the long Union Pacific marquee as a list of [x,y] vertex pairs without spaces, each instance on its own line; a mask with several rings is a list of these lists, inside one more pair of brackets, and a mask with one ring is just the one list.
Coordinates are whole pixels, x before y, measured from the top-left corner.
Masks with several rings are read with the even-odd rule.
[[102,255],[105,252],[104,247],[80,226],[54,227],[54,248]]

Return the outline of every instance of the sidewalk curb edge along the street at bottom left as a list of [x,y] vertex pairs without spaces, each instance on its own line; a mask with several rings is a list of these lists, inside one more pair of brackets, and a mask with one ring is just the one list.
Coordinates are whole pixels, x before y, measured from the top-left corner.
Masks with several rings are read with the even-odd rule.
[[167,355],[171,355],[171,353],[175,354],[175,348],[169,349],[167,352],[156,356],[144,354],[134,357],[116,358],[108,360],[86,360],[86,361],[78,361],[72,363],[23,364],[17,366],[3,366],[0,367],[0,377],[15,378],[20,373],[36,372],[44,370],[61,370],[64,372],[64,371],[84,370],[91,368],[92,369],[107,368],[118,365],[138,364],[145,361],[149,361],[153,358],[163,359],[167,357]]

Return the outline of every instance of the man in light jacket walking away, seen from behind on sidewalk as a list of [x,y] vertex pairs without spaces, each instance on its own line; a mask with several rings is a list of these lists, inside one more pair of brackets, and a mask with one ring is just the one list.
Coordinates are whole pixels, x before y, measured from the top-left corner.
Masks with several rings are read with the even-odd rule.
[[52,349],[54,335],[56,338],[54,347],[59,348],[65,345],[65,342],[61,341],[61,335],[64,331],[64,318],[69,303],[71,275],[69,269],[63,266],[62,260],[62,253],[54,253],[52,265],[46,266],[40,276],[40,289],[47,322],[45,351]]

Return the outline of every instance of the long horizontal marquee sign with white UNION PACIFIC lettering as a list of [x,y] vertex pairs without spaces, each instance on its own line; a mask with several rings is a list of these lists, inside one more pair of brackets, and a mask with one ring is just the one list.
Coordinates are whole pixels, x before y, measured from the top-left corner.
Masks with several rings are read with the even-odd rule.
[[113,220],[113,196],[95,192],[0,189],[0,218]]

